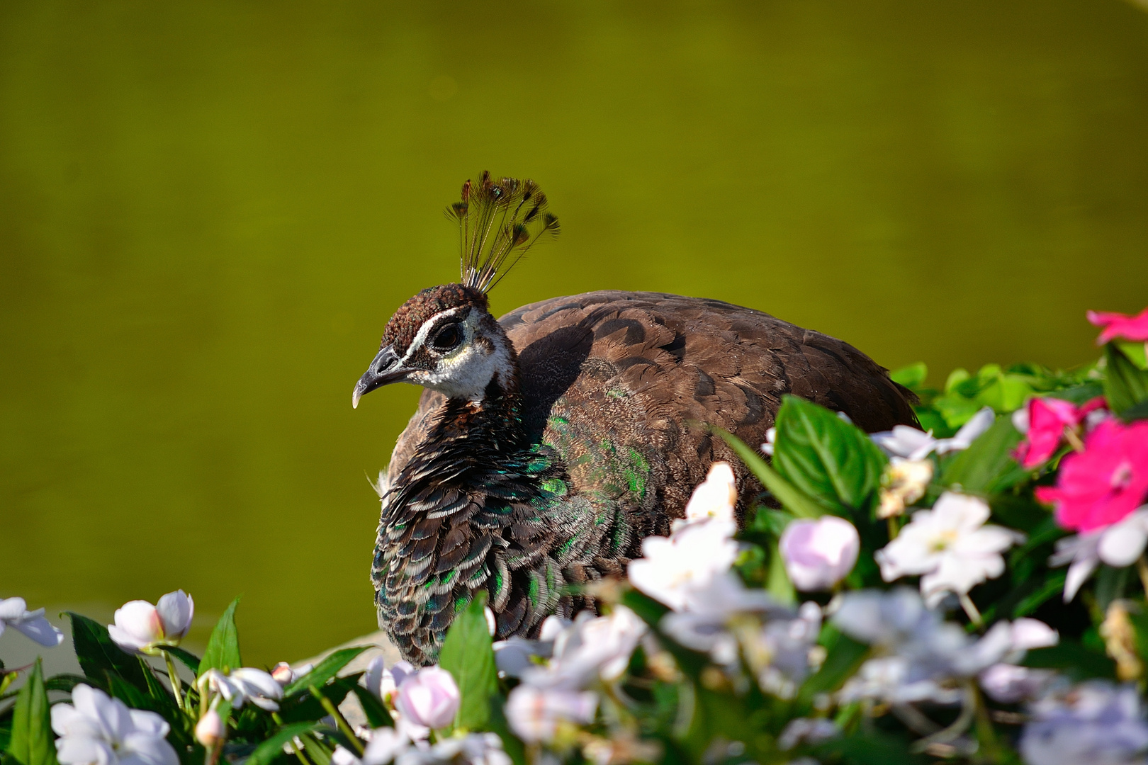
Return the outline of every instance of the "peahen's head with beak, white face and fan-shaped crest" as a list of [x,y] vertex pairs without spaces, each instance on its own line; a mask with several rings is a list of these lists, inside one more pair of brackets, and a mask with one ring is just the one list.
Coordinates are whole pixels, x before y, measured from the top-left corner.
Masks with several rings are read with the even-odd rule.
[[490,314],[487,292],[543,234],[557,235],[558,218],[546,212],[546,195],[534,181],[488,172],[463,185],[447,217],[459,225],[461,283],[425,289],[395,312],[351,406],[395,382],[476,404],[491,383],[517,385],[514,349]]

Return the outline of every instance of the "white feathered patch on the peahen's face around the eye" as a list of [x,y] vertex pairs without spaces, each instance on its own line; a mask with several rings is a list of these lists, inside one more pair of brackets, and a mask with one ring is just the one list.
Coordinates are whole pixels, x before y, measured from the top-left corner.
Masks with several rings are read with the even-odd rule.
[[[403,360],[410,359],[427,343],[430,331],[442,326],[443,317],[456,315],[465,310],[467,306],[450,309],[427,319],[419,327]],[[411,372],[408,374],[408,381],[436,390],[448,398],[463,398],[481,404],[487,385],[494,376],[509,377],[512,372],[507,341],[501,335],[490,336],[481,331],[484,315],[481,311],[471,311],[461,321],[459,327],[463,330],[463,342],[455,350],[443,354],[428,346],[427,352],[430,358],[437,360],[435,368]]]

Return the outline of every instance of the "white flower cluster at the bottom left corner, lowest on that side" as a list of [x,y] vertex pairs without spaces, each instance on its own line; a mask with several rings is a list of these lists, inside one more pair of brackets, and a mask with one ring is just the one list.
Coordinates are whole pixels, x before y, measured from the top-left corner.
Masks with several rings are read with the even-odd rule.
[[179,765],[162,717],[85,685],[72,689],[71,704],[53,705],[52,729],[61,765]]

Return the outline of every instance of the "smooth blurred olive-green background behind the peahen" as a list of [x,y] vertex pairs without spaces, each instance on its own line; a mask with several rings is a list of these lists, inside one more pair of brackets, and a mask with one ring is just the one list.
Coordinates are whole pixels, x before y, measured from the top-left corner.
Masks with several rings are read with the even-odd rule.
[[940,382],[1148,303],[1146,138],[1122,0],[5,2],[0,595],[183,587],[202,645],[243,593],[256,665],[373,630],[418,391],[351,387],[484,167],[564,229],[499,313],[716,297]]

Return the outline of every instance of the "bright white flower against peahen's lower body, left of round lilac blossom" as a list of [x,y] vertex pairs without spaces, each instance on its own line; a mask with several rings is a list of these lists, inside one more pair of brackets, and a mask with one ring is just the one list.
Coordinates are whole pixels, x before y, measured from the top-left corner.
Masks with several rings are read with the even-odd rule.
[[704,590],[734,564],[737,542],[731,526],[713,518],[681,526],[669,538],[646,537],[643,557],[630,562],[630,584],[681,610],[692,592]]

